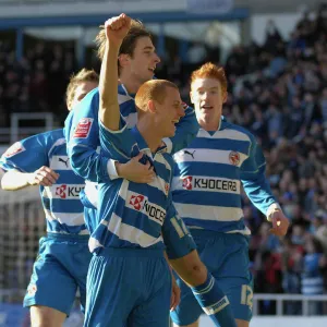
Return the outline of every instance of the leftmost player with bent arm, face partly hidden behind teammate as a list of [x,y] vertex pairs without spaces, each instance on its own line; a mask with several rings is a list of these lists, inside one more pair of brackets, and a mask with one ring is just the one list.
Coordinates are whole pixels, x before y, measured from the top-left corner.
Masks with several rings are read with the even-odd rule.
[[[94,71],[82,70],[73,76],[66,88],[69,110],[97,85]],[[71,168],[62,129],[15,143],[2,155],[0,166],[7,171],[1,180],[3,190],[39,185],[47,235],[39,241],[24,306],[31,307],[33,326],[62,326],[77,288],[82,308],[85,306],[90,254],[78,198],[84,180]]]

